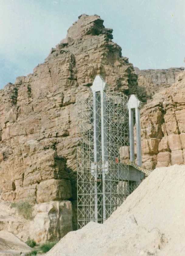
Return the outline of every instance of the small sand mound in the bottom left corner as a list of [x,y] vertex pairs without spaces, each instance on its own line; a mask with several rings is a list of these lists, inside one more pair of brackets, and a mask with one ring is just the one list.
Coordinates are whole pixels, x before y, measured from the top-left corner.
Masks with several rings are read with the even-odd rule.
[[8,231],[0,231],[0,255],[4,253],[27,253],[32,249],[22,242],[18,237]]

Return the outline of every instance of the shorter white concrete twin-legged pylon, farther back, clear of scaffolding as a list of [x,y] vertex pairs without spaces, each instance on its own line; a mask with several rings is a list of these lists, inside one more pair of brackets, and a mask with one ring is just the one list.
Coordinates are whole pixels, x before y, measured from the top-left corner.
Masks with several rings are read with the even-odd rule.
[[137,149],[137,164],[142,165],[141,156],[141,125],[140,125],[140,108],[142,102],[132,94],[128,100],[128,118],[129,118],[129,144],[130,144],[130,161],[134,161],[134,120],[133,113],[135,109],[135,126],[136,126],[136,149]]

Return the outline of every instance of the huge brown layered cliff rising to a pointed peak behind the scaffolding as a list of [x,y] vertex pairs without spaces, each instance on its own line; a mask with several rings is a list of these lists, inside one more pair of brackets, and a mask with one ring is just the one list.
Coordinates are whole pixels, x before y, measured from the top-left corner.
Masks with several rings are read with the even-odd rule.
[[[97,74],[126,94],[137,88],[112,38],[99,16],[81,15],[44,63],[0,90],[1,200],[36,203],[28,236],[38,241],[76,228],[76,98]],[[0,229],[26,239],[15,219],[2,217]]]

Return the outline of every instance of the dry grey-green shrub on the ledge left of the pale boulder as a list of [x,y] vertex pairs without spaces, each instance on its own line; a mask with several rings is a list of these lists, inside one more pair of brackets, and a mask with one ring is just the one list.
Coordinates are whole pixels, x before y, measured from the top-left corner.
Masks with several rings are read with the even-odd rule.
[[11,208],[17,208],[18,213],[22,215],[25,219],[32,219],[33,204],[29,201],[12,202],[10,206]]

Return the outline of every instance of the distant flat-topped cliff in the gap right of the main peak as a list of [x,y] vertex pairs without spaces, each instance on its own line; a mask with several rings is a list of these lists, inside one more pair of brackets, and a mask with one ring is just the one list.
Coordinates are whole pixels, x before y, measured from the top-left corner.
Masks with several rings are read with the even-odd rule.
[[138,75],[138,92],[142,101],[151,99],[152,96],[164,88],[168,88],[177,82],[184,67],[171,67],[168,69],[144,69],[134,67]]

